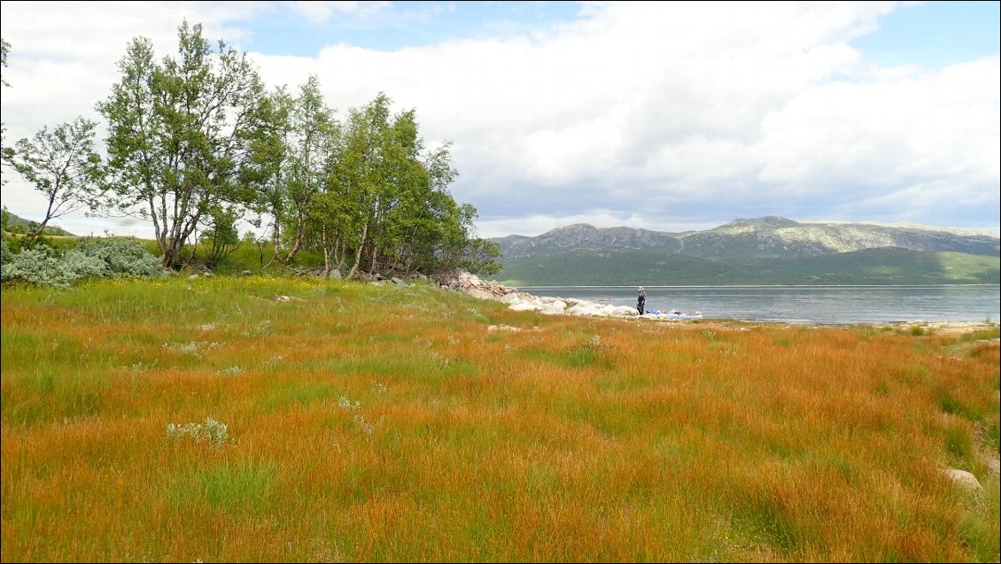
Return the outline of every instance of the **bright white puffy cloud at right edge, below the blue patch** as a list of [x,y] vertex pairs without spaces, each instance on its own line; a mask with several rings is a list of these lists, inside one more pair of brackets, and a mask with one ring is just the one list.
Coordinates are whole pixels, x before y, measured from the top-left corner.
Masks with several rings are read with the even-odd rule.
[[[790,189],[995,186],[1001,154],[998,59],[894,80],[825,83],[765,116],[752,151],[763,183]],[[976,194],[973,194],[974,196]],[[995,193],[996,198],[996,193]]]

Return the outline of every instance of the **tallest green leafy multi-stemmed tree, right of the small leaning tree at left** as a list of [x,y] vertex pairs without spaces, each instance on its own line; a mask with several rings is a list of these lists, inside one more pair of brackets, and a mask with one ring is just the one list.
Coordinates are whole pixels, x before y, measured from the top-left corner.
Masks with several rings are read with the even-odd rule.
[[220,42],[213,49],[201,25],[178,28],[178,56],[157,63],[149,40],[136,38],[119,63],[121,80],[98,111],[108,120],[111,194],[105,207],[153,218],[164,266],[213,206],[247,205],[238,182],[243,155],[264,124],[265,98],[245,54]]

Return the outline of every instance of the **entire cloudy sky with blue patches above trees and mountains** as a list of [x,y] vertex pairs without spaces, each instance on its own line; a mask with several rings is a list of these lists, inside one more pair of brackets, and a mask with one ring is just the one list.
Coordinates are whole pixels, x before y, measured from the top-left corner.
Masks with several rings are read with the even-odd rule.
[[[77,116],[139,36],[247,53],[345,116],[379,92],[451,142],[479,237],[766,215],[999,231],[998,2],[2,2],[5,145]],[[4,170],[11,212],[42,195]],[[55,221],[152,237],[134,220]]]

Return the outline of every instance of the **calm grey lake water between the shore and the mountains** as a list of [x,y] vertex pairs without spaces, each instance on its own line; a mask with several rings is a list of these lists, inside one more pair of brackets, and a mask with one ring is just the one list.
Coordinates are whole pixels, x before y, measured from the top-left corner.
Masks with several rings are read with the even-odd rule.
[[[535,296],[636,307],[636,286],[519,286]],[[1001,320],[1001,286],[645,286],[647,309],[785,323]]]

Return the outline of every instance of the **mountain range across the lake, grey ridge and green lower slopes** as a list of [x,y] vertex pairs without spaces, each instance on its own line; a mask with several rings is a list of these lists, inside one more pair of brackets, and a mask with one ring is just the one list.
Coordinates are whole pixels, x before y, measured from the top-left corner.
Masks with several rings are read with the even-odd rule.
[[736,219],[707,231],[561,227],[492,238],[511,285],[997,284],[997,235],[913,224]]

